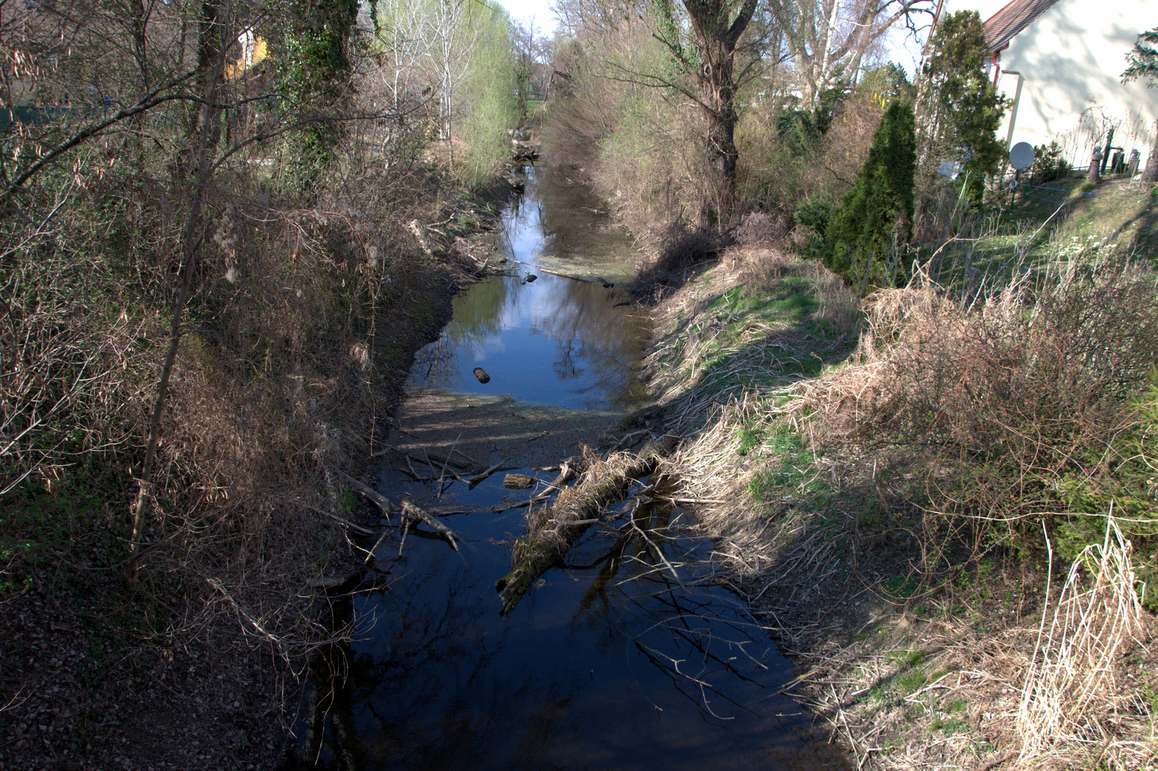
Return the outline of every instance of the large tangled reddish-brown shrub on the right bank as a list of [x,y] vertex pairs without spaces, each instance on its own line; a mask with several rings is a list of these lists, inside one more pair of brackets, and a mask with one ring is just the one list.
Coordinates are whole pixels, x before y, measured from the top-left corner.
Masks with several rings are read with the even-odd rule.
[[1156,298],[1153,274],[1129,264],[968,306],[933,285],[884,290],[857,364],[802,384],[798,414],[820,444],[916,474],[909,494],[931,510],[988,523],[975,538],[1007,538],[1097,472],[1158,361]]

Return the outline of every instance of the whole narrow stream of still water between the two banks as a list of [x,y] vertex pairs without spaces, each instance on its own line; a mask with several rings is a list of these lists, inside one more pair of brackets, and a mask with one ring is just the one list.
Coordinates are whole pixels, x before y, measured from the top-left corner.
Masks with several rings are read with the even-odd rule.
[[[381,588],[335,609],[352,619],[352,642],[314,665],[299,734],[307,759],[350,770],[848,768],[778,693],[791,664],[719,585],[711,541],[670,501],[614,507],[499,614],[494,581],[527,511],[501,509],[555,477],[533,467],[622,432],[623,415],[646,403],[638,372],[651,321],[617,286],[637,259],[630,240],[581,186],[529,169],[496,248],[514,275],[456,297],[453,320],[417,355],[379,479],[390,500],[409,495],[439,515],[461,551],[423,524],[400,550],[391,528],[375,553]],[[501,471],[468,489],[431,454]],[[506,489],[508,472],[537,486]]]

